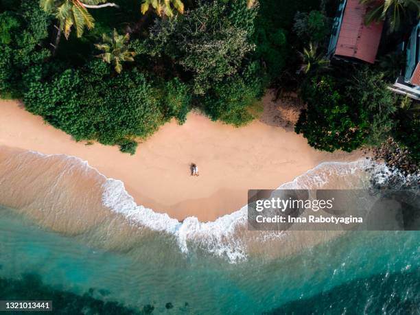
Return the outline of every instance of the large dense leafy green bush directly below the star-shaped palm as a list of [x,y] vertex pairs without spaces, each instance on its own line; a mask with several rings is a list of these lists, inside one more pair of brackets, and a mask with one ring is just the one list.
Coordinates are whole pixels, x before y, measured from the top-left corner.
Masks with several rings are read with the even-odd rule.
[[24,95],[26,108],[78,141],[119,145],[152,135],[162,115],[150,83],[135,69],[117,77],[108,73],[109,67],[97,60],[49,82],[33,82]]

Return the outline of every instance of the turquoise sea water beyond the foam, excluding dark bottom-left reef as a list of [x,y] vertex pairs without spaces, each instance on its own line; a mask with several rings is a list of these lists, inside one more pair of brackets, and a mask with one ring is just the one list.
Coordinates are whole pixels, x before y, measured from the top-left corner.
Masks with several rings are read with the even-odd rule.
[[56,290],[152,305],[152,314],[418,314],[419,241],[419,232],[353,232],[290,257],[229,264],[170,242],[106,252],[2,208],[0,276],[34,274]]

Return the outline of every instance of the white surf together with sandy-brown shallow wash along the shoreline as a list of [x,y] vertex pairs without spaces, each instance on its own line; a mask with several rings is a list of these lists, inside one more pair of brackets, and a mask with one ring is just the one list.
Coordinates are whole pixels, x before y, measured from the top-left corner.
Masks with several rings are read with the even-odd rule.
[[[250,253],[282,250],[285,242],[294,248],[313,244],[303,240],[304,233],[287,237],[282,231],[248,231],[246,205],[212,222],[196,217],[180,222],[137,205],[121,180],[106,178],[75,156],[3,148],[0,153],[5,153],[0,154],[0,203],[48,229],[89,235],[89,244],[130,250],[144,235],[158,233],[182,253],[199,252],[230,263],[244,261]],[[372,174],[386,174],[385,165],[371,159],[325,162],[279,189],[362,189],[371,185]],[[325,235],[313,236],[307,239]]]

